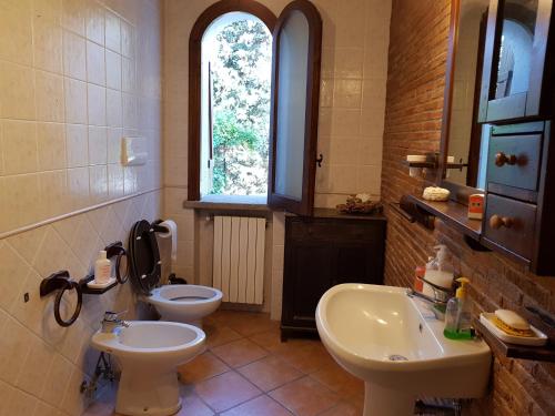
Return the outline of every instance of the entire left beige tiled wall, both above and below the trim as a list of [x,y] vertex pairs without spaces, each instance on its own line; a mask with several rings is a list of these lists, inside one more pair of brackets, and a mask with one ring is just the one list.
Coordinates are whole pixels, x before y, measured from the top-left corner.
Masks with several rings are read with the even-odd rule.
[[[127,284],[62,328],[39,284],[161,213],[161,24],[155,0],[0,0],[1,416],[80,415],[102,313],[137,314]],[[123,135],[147,138],[144,166],[121,166]]]

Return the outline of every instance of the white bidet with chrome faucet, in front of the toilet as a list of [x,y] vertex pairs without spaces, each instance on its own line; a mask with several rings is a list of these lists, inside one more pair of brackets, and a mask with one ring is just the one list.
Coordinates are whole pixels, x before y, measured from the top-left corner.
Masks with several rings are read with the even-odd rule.
[[121,367],[115,413],[168,416],[181,408],[176,367],[205,349],[205,335],[193,325],[131,321],[100,329],[92,345],[112,354]]

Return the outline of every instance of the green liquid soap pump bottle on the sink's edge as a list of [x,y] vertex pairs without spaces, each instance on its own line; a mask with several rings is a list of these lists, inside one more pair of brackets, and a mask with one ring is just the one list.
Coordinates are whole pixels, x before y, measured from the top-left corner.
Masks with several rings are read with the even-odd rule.
[[447,302],[443,335],[450,339],[472,339],[471,304],[466,298],[466,285],[470,281],[466,277],[460,277],[456,281],[461,283],[461,287]]

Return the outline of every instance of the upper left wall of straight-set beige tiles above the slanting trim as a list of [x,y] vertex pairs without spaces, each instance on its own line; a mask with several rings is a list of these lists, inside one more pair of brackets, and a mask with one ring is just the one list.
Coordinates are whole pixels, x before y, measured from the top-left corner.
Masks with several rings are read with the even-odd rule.
[[[160,187],[160,17],[147,0],[0,1],[0,235]],[[147,138],[147,165],[121,166],[124,135]]]

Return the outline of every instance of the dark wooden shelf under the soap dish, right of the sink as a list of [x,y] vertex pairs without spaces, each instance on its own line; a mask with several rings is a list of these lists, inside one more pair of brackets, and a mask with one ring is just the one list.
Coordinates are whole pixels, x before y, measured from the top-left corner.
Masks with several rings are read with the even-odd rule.
[[505,343],[493,335],[480,319],[474,319],[474,327],[482,335],[492,349],[507,358],[533,359],[538,362],[555,363],[555,346],[526,346]]

